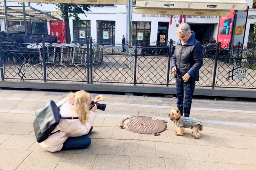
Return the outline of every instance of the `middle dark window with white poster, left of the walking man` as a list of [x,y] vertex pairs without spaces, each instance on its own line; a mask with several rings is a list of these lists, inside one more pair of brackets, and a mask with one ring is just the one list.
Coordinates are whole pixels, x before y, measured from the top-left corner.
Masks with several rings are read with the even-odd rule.
[[97,21],[97,41],[105,45],[115,45],[116,21]]

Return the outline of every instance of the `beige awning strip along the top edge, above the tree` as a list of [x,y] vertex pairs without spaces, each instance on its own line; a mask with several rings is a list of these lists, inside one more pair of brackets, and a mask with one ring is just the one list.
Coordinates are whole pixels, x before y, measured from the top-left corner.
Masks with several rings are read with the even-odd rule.
[[7,0],[12,2],[60,3],[60,4],[126,4],[127,0]]

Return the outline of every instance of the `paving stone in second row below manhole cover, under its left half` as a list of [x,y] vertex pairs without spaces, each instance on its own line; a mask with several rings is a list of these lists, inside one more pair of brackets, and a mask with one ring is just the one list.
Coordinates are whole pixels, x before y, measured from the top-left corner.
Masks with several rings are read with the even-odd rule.
[[124,155],[156,157],[156,144],[150,141],[127,140]]

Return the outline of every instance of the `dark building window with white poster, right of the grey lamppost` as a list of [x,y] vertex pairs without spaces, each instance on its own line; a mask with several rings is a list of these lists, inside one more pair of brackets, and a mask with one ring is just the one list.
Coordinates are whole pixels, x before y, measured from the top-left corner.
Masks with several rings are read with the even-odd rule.
[[151,22],[132,22],[132,39],[150,43]]

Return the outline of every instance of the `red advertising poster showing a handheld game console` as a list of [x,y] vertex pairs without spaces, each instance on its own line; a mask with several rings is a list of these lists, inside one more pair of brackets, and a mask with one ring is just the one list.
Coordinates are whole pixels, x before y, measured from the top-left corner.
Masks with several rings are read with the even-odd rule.
[[221,42],[223,46],[228,45],[231,39],[234,23],[234,11],[235,10],[231,10],[228,16],[220,17],[218,42]]

